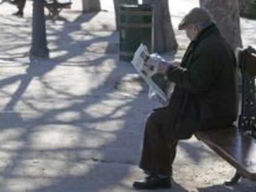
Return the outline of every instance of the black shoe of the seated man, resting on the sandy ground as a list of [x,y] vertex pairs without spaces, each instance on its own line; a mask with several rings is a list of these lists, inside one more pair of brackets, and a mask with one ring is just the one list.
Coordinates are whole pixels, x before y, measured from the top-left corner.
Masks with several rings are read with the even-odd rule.
[[157,175],[150,175],[145,180],[134,182],[133,186],[139,190],[156,190],[171,188],[171,182],[168,177],[160,178]]

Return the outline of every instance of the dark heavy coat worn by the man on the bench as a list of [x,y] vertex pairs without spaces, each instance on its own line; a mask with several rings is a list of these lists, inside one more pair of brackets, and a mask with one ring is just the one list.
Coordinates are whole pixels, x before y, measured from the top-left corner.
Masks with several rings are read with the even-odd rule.
[[196,130],[225,127],[236,120],[236,58],[215,24],[189,44],[181,67],[170,69],[168,78],[176,88],[169,106],[162,109],[169,113],[164,136],[187,139]]

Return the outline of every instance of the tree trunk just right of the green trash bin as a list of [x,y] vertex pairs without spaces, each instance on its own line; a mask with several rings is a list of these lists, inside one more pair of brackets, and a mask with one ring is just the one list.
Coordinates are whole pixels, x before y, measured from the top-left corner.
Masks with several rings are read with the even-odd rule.
[[168,0],[143,0],[143,4],[154,6],[154,51],[176,52],[177,41],[171,23]]

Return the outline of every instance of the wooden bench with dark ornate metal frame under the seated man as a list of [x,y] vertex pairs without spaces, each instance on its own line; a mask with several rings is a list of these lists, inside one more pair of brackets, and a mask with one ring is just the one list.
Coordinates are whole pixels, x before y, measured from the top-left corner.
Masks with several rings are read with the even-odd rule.
[[242,72],[242,112],[239,127],[200,130],[195,137],[229,162],[237,172],[226,185],[234,185],[241,177],[256,182],[256,51],[239,51],[238,64]]

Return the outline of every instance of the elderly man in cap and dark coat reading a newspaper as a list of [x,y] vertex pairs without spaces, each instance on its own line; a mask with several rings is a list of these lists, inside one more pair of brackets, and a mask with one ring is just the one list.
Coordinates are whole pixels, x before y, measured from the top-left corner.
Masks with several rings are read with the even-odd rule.
[[139,167],[148,177],[134,182],[134,188],[170,188],[178,140],[196,130],[232,125],[237,118],[233,49],[205,9],[190,10],[179,30],[191,42],[181,65],[157,65],[176,87],[168,107],[155,109],[147,119]]

